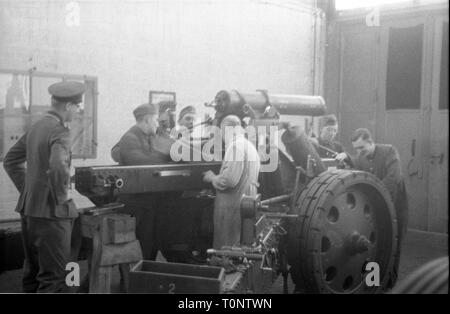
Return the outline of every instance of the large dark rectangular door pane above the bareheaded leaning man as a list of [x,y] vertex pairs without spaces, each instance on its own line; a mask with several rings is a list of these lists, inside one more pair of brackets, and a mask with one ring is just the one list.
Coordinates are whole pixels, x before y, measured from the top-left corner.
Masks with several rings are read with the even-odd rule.
[[420,109],[423,24],[389,29],[386,109]]

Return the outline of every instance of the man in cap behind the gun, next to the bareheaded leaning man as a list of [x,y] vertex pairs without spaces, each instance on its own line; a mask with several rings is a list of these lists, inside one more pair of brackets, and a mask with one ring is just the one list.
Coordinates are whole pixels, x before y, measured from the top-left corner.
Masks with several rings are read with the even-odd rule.
[[319,138],[312,138],[312,143],[316,147],[320,158],[334,158],[335,154],[330,152],[330,150],[336,153],[344,152],[344,147],[341,143],[334,140],[338,132],[338,123],[334,114],[320,117],[319,129]]

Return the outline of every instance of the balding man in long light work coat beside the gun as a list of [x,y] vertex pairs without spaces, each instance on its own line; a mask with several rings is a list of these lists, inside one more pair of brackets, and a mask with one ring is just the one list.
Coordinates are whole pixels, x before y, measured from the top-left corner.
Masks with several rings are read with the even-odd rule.
[[[227,130],[228,128],[228,130]],[[233,128],[231,132],[229,128]],[[235,115],[225,117],[221,123],[225,141],[225,157],[220,173],[211,170],[203,180],[216,189],[214,200],[214,249],[240,243],[240,200],[243,194],[256,195],[260,159],[255,146],[244,136],[241,121]]]

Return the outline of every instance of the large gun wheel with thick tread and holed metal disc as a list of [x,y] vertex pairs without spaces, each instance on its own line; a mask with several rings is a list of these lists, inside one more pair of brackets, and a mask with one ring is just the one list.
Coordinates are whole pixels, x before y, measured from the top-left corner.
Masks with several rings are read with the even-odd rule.
[[[397,248],[389,193],[375,176],[336,170],[314,178],[300,194],[291,243],[294,282],[304,292],[375,293],[388,280]],[[292,238],[293,237],[293,238]],[[376,262],[380,285],[368,286],[366,265]]]

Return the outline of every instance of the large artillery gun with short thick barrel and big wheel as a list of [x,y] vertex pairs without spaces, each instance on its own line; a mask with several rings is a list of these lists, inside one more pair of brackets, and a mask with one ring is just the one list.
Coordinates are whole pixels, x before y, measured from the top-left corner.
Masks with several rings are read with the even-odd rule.
[[[198,266],[206,273],[217,266],[227,270],[214,292],[265,293],[280,274],[287,292],[289,273],[304,293],[383,291],[397,249],[388,191],[370,173],[336,169],[333,161],[320,159],[308,136],[281,119],[323,115],[323,99],[220,91],[208,106],[215,109],[213,125],[234,114],[244,125],[276,126],[285,146],[277,148],[275,171],[260,173],[260,194],[242,197],[240,245],[209,249],[208,265]],[[76,168],[75,182],[81,194],[101,207],[117,201],[121,193],[200,192],[211,188],[202,173],[217,173],[219,167],[217,162],[81,167]],[[370,262],[379,265],[379,286],[365,282]],[[181,292],[204,292],[192,284],[201,286],[198,278],[183,278],[191,290]]]

